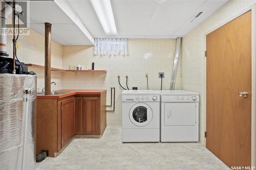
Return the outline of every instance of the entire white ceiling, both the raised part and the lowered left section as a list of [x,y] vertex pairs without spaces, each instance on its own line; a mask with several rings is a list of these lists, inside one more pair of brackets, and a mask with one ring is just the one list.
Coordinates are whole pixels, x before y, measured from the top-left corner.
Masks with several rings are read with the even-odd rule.
[[176,38],[227,1],[111,0],[117,35],[104,33],[90,0],[34,1],[30,3],[30,28],[44,35],[44,23],[52,23],[52,39],[61,45],[93,45],[93,38]]

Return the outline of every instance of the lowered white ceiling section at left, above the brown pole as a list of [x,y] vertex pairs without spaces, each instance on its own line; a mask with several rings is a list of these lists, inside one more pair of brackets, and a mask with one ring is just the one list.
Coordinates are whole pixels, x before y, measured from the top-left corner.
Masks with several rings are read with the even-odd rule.
[[45,22],[52,24],[52,40],[61,45],[93,45],[92,35],[66,1],[31,1],[29,26],[44,35]]

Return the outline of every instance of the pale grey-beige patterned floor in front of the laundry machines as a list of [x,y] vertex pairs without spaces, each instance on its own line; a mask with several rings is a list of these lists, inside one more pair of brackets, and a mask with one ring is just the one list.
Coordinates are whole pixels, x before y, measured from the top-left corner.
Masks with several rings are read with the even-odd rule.
[[229,169],[201,143],[122,143],[121,134],[107,127],[100,139],[76,138],[36,169]]

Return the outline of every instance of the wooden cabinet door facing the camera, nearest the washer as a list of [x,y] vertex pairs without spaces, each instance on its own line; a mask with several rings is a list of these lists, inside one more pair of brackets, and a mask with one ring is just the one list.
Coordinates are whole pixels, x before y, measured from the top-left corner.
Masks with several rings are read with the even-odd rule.
[[99,98],[82,98],[82,134],[99,135]]

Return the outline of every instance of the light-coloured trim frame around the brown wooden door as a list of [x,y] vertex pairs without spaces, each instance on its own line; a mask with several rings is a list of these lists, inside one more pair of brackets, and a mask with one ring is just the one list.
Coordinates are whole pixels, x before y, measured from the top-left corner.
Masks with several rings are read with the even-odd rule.
[[[208,30],[205,34],[204,34],[204,49],[206,51],[206,35],[217,30],[218,28],[226,25],[226,23],[236,19],[237,17],[243,15],[244,13],[248,12],[251,10],[251,166],[255,166],[255,67],[256,67],[256,62],[255,62],[255,15],[256,15],[256,4],[253,4],[245,9],[242,9],[241,11],[239,11],[238,13],[234,14],[233,16],[229,17],[227,20],[225,20],[224,22],[220,23],[219,25],[217,25],[216,27]],[[204,103],[203,105],[205,106],[205,110],[204,110],[204,131],[206,132],[206,57],[204,60]],[[200,134],[202,135],[202,134]],[[204,140],[204,145],[206,145],[206,139]]]

